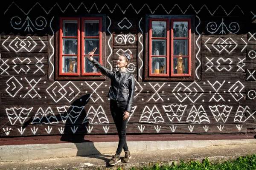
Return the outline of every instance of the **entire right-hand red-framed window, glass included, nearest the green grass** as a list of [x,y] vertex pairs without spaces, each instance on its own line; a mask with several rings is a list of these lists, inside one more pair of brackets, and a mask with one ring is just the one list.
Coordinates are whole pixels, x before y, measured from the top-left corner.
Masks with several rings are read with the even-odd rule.
[[148,17],[146,79],[189,77],[187,79],[191,80],[191,22],[191,17]]

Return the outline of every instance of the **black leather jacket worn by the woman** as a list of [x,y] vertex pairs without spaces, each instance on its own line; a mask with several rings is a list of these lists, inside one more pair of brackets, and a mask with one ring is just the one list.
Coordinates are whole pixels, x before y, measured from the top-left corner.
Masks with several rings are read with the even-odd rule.
[[111,79],[108,98],[118,101],[127,101],[125,111],[131,112],[135,91],[134,75],[129,72],[121,74],[119,71],[110,71],[94,58],[92,63],[102,74]]

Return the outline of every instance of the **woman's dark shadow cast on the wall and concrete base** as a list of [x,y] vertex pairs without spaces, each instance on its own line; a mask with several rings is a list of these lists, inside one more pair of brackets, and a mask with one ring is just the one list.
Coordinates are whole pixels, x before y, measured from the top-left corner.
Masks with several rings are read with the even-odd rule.
[[85,106],[90,100],[90,94],[85,94],[79,99],[76,99],[70,107],[63,106],[58,108],[58,120],[64,122],[64,129],[61,129],[61,141],[72,142],[76,145],[76,156],[84,156],[90,158],[102,159],[108,161],[95,147],[93,141],[85,139],[85,136],[90,132],[89,116],[85,111]]

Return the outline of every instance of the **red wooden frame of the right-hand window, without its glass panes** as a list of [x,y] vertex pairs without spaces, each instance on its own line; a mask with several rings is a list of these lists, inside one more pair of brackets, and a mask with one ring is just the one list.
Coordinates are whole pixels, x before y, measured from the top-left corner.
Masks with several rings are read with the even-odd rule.
[[[165,21],[167,29],[167,37],[152,37],[152,21]],[[173,22],[175,21],[187,21],[188,22],[188,37],[173,37]],[[170,24],[171,23],[171,24]],[[170,27],[171,25],[171,27]],[[171,36],[170,36],[171,32]],[[169,38],[170,37],[170,38]],[[152,40],[165,40],[166,39],[166,56],[154,56],[152,55]],[[173,55],[174,40],[188,40],[188,55],[182,56],[188,58],[188,74],[174,74],[173,72],[173,58],[180,57]],[[171,49],[171,50],[170,50]],[[150,77],[191,77],[191,19],[169,19],[169,18],[149,18],[149,76]],[[167,57],[166,59],[166,74],[153,74],[152,73],[152,57]]]

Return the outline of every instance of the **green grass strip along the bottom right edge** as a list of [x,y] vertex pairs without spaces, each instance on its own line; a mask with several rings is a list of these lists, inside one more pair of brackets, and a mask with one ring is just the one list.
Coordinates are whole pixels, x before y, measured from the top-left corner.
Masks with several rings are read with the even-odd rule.
[[[122,170],[118,167],[116,170]],[[178,161],[169,164],[153,164],[150,167],[131,167],[130,170],[256,170],[256,154],[251,156],[240,156],[231,161],[213,162],[208,158],[202,162]]]

